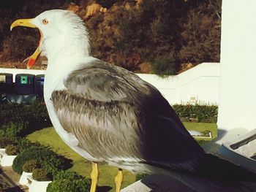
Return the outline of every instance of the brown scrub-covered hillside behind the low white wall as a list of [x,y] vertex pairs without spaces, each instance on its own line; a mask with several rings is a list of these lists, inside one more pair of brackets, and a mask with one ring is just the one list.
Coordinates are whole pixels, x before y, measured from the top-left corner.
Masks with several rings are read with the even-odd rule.
[[91,55],[133,72],[176,74],[219,61],[221,0],[0,0],[0,67],[25,67],[20,62],[39,41],[36,29],[10,33],[10,23],[47,9],[76,12],[89,29]]

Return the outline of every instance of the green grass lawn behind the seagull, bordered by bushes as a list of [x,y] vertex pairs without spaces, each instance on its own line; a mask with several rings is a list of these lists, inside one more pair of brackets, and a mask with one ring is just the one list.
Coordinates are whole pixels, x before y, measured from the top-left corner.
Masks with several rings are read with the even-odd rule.
[[[217,126],[214,123],[187,123],[184,122],[187,129],[195,131],[210,130],[214,137],[217,137]],[[35,131],[33,134],[27,136],[31,142],[40,142],[42,145],[49,146],[56,153],[71,158],[74,166],[70,170],[78,172],[79,174],[89,177],[91,173],[91,162],[82,158],[80,155],[71,150],[64,142],[61,141],[56,131],[53,128],[44,128],[40,131]],[[111,191],[115,190],[114,177],[117,174],[117,168],[105,164],[99,165],[99,186],[110,186]],[[135,182],[135,175],[124,170],[123,188]]]

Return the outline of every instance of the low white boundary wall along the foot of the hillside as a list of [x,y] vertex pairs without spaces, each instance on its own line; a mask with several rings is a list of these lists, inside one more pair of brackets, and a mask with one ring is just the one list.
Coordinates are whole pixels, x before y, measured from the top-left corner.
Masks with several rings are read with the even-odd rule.
[[[3,69],[0,73],[44,74],[43,70]],[[203,63],[178,75],[162,78],[156,74],[138,74],[165,96],[170,104],[207,103],[219,104],[219,64]],[[193,100],[195,99],[195,100]]]

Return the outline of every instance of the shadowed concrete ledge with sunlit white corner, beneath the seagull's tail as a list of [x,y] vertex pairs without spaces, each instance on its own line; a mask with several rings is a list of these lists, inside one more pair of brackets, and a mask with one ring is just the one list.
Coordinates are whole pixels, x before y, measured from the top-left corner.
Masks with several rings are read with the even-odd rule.
[[256,183],[248,181],[222,182],[192,174],[173,172],[172,176],[148,175],[124,188],[121,192],[241,192],[244,189],[246,189],[245,191],[255,191]]

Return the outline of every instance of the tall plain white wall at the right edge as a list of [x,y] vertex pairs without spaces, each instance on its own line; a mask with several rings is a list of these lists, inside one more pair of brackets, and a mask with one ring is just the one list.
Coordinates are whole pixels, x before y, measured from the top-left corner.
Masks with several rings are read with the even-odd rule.
[[226,131],[256,128],[255,18],[255,0],[222,1],[218,127]]

